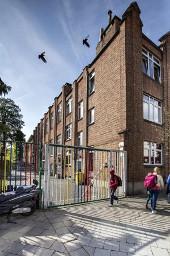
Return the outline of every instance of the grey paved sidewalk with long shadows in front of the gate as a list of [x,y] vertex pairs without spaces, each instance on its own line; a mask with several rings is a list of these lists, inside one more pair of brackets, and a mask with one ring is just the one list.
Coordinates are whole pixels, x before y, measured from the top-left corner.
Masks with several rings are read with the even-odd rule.
[[145,209],[145,195],[15,216],[0,217],[0,256],[169,256],[170,204],[159,196],[158,214]]

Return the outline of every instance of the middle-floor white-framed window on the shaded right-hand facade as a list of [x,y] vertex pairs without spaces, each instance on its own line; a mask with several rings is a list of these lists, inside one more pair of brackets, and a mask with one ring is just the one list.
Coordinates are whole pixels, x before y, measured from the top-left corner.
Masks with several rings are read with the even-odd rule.
[[143,118],[162,124],[162,102],[143,94]]

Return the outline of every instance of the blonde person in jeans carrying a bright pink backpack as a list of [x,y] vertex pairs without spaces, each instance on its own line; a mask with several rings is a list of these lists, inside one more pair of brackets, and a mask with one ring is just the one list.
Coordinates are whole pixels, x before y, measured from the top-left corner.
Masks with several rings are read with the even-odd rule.
[[163,177],[160,175],[158,167],[154,168],[154,174],[149,174],[145,177],[145,187],[151,195],[151,208],[152,213],[156,214],[156,202],[158,199],[160,188],[164,188]]

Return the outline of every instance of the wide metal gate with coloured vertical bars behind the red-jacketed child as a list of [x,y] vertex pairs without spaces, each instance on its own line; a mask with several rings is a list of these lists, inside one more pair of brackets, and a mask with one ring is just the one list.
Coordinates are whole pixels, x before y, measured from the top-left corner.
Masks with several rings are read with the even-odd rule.
[[109,168],[122,179],[126,195],[126,152],[61,144],[45,145],[44,208],[109,198]]

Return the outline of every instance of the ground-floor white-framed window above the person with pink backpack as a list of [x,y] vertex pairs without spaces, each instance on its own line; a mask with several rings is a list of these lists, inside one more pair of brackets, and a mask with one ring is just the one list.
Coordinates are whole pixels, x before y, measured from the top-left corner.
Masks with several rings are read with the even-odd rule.
[[143,142],[143,164],[162,165],[162,144],[154,142]]

